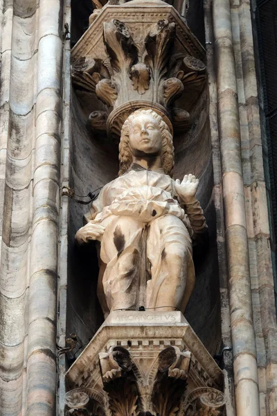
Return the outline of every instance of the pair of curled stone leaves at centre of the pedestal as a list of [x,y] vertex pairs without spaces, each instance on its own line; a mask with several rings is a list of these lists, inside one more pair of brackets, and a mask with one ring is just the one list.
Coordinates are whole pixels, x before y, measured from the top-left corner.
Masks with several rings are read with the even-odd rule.
[[186,390],[190,352],[163,349],[146,375],[127,349],[111,347],[100,354],[100,367],[113,415],[175,416]]

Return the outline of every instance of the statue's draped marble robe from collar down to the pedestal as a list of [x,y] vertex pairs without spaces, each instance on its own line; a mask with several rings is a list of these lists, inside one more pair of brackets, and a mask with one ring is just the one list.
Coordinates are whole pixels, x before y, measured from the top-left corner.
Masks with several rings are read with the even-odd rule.
[[142,305],[184,311],[195,284],[192,238],[206,228],[197,200],[184,204],[170,176],[133,164],[102,188],[86,219],[105,227],[98,278],[105,315]]

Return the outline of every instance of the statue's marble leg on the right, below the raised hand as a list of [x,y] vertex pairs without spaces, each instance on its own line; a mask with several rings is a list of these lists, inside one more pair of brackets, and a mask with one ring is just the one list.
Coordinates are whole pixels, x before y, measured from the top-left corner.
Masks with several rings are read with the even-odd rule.
[[191,241],[184,223],[172,215],[150,223],[147,254],[152,279],[148,281],[147,307],[184,311],[186,285],[192,285],[194,267]]

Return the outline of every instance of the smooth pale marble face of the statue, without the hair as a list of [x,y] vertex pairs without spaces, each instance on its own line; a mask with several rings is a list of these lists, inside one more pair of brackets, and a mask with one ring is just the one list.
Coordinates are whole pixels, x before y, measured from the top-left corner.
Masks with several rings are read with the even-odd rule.
[[159,155],[162,137],[157,121],[150,114],[140,114],[131,123],[129,148],[134,156]]

